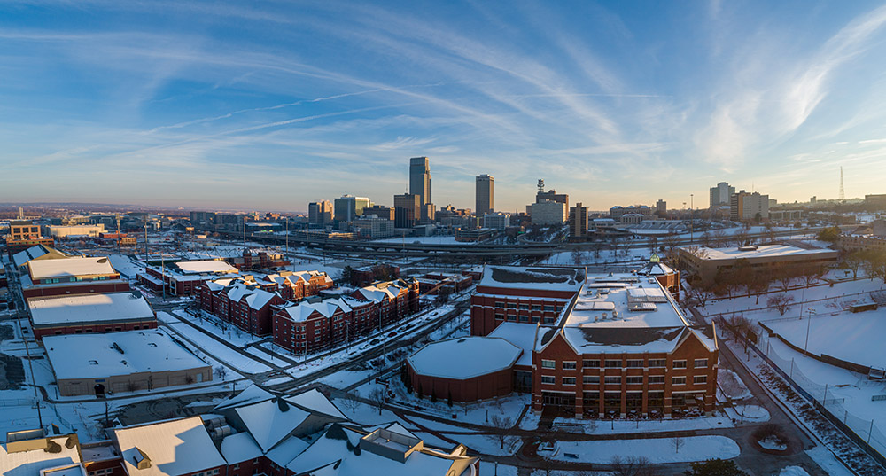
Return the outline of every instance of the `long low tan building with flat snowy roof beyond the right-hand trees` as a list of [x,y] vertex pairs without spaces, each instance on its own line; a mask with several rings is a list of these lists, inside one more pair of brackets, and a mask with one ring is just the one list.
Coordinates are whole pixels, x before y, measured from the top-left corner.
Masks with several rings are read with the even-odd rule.
[[739,260],[747,260],[752,268],[763,269],[775,263],[791,265],[817,264],[821,266],[836,263],[838,253],[835,250],[813,248],[806,249],[788,245],[739,246],[728,248],[696,249],[678,248],[680,262],[690,275],[701,278],[704,284],[711,284],[720,269],[732,269]]

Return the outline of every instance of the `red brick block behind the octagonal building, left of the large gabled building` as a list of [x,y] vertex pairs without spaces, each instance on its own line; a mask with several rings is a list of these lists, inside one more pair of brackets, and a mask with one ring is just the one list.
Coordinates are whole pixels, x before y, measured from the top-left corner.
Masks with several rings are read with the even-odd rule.
[[584,282],[584,269],[487,266],[470,298],[470,334],[504,322],[554,324]]

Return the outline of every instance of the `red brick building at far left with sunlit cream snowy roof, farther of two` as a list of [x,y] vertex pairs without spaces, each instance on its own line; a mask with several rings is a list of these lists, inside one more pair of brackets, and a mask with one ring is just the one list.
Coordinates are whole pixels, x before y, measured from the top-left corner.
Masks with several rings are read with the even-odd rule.
[[22,275],[21,281],[21,293],[26,300],[36,296],[129,291],[128,281],[120,278],[105,257],[27,261],[27,275]]

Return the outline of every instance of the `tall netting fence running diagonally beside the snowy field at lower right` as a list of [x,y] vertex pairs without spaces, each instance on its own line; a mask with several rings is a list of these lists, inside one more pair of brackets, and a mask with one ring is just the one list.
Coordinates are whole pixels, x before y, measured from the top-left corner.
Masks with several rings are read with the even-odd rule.
[[812,403],[820,414],[833,423],[859,448],[863,449],[874,460],[886,466],[886,433],[883,433],[874,419],[866,419],[852,414],[843,406],[845,399],[828,398],[828,386],[822,386],[800,371],[795,360],[782,357],[769,345],[769,339],[764,332],[760,340],[760,348],[750,344],[753,349],[774,371],[781,375],[798,394]]

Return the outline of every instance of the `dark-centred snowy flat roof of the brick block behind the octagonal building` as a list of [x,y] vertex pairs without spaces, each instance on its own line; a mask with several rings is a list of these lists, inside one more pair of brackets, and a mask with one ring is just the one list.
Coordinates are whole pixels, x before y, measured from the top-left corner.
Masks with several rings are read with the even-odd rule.
[[577,292],[584,282],[583,269],[487,266],[478,286]]

